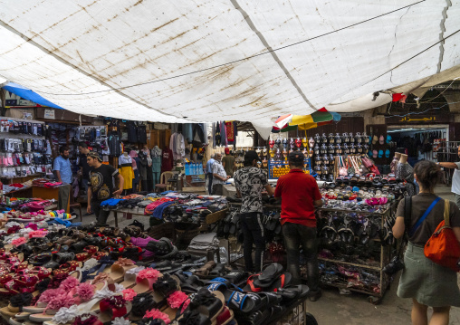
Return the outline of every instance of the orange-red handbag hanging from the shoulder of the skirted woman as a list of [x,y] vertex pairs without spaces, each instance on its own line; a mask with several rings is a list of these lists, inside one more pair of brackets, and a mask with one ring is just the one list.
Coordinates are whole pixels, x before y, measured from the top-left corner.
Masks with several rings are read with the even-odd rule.
[[460,244],[450,226],[449,207],[449,201],[444,200],[444,220],[426,242],[424,253],[434,263],[459,272]]

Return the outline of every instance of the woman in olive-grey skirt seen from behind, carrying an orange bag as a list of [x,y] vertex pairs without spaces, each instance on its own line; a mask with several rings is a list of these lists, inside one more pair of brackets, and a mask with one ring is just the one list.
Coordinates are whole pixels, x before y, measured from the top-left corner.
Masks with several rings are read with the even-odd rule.
[[[449,204],[450,225],[456,239],[460,242],[460,210],[453,203],[438,200],[435,186],[442,176],[441,170],[432,161],[420,161],[414,167],[415,177],[420,186],[417,196],[410,198],[410,221],[408,244],[404,253],[405,267],[399,279],[398,297],[412,298],[412,324],[428,324],[428,306],[433,308],[429,324],[448,324],[450,306],[460,307],[460,291],[455,271],[432,262],[425,256],[424,247],[435,232],[437,225],[444,220],[444,209]],[[395,238],[405,232],[406,200],[399,201],[397,218],[393,226]],[[418,225],[417,221],[426,214],[426,219]]]

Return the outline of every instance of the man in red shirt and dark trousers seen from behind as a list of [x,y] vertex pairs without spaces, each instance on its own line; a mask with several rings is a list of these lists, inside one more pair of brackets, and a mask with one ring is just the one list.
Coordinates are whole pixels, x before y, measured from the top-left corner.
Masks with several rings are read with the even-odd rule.
[[287,253],[287,271],[293,284],[301,282],[299,266],[300,246],[307,261],[307,284],[311,301],[321,297],[319,287],[318,244],[316,239],[315,207],[322,206],[321,193],[316,180],[303,172],[304,156],[301,151],[289,153],[290,172],[278,179],[275,197],[281,197],[281,224]]

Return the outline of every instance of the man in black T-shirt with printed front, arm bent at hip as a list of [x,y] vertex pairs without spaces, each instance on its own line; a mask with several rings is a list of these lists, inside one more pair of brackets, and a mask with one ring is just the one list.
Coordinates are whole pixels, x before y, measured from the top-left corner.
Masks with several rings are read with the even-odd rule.
[[[102,226],[107,223],[110,211],[101,209],[101,202],[112,196],[120,196],[123,190],[124,178],[120,175],[118,169],[103,165],[102,159],[97,152],[91,151],[87,157],[88,165],[92,167],[90,172],[91,186],[88,187],[88,213],[91,213],[91,207],[96,215],[96,222],[93,225]],[[119,189],[113,188],[113,177],[119,180]]]

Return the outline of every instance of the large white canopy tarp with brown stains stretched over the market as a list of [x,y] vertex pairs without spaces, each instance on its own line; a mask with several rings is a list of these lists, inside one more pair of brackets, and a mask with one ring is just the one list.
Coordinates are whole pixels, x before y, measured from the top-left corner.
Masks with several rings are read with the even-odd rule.
[[459,65],[459,2],[3,0],[0,77],[81,114],[270,129]]

